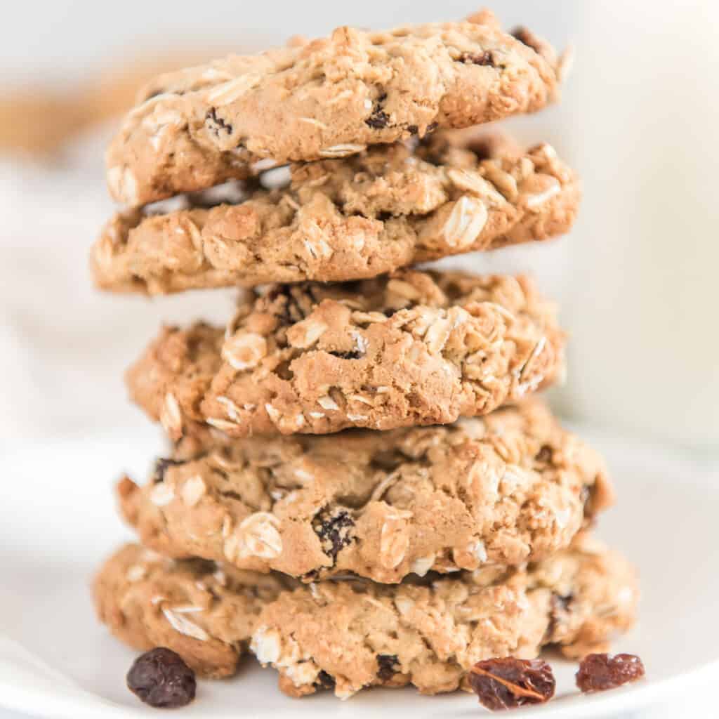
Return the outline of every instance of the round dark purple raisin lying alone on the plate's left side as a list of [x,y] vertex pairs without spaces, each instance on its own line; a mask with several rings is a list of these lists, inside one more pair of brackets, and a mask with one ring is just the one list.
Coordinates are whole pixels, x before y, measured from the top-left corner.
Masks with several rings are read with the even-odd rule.
[[127,687],[151,707],[183,707],[195,698],[195,672],[172,649],[158,646],[135,659]]

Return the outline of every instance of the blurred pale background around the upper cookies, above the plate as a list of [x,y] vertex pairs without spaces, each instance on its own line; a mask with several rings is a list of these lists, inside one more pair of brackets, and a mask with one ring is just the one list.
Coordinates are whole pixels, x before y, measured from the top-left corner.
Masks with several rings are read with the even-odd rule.
[[[526,24],[559,48],[575,47],[562,104],[506,127],[523,141],[554,144],[580,171],[585,201],[569,237],[451,264],[531,271],[562,303],[570,366],[553,401],[564,416],[719,455],[719,6],[503,0],[492,7],[506,27]],[[231,292],[147,301],[91,287],[88,247],[112,211],[102,153],[139,83],[338,24],[392,27],[476,9],[456,0],[75,0],[6,10],[2,436],[135,434],[145,419],[127,403],[122,372],[160,321],[222,321],[229,313]]]

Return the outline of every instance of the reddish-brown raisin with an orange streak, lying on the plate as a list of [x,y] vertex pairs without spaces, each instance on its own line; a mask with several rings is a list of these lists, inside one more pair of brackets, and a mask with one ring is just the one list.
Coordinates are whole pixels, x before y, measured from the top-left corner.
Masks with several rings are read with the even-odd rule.
[[543,704],[554,696],[556,684],[546,661],[513,656],[478,661],[469,680],[480,703],[491,710]]

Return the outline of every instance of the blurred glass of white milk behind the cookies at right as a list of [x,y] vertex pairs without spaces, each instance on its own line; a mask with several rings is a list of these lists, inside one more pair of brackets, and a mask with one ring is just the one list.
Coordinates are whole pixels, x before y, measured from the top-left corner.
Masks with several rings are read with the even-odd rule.
[[577,168],[579,219],[463,264],[533,273],[561,303],[565,416],[719,456],[719,3],[561,7],[532,27],[574,42],[562,104],[508,129]]

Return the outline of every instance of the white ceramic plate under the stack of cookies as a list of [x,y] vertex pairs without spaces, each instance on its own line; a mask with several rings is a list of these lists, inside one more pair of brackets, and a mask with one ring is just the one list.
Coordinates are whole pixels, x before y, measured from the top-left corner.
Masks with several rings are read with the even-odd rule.
[[[719,669],[719,481],[656,448],[607,438],[595,444],[608,456],[620,498],[600,534],[638,564],[644,592],[638,626],[615,648],[639,654],[648,678],[582,697],[574,689],[576,665],[552,658],[557,697],[513,716],[580,719],[634,710]],[[157,718],[125,687],[134,652],[96,623],[88,593],[93,569],[131,536],[116,517],[111,484],[123,469],[144,476],[157,446],[155,436],[139,436],[1,448],[0,706],[68,719]],[[360,692],[348,702],[329,694],[290,700],[276,690],[276,679],[248,657],[236,678],[201,682],[196,701],[180,714],[420,719],[482,713],[472,695],[421,697],[412,689]]]

